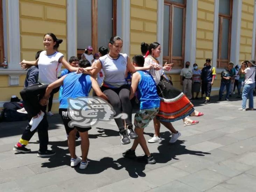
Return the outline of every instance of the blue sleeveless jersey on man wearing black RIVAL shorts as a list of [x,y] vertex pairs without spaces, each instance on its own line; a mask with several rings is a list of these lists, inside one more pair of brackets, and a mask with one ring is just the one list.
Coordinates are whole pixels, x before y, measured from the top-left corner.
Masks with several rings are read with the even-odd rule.
[[67,74],[63,80],[62,97],[59,108],[67,108],[68,98],[88,97],[92,88],[91,76],[83,73],[72,72]]

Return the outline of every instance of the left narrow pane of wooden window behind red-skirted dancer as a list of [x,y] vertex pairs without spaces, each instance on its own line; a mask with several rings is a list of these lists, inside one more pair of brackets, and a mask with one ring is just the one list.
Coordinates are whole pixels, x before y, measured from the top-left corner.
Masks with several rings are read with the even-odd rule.
[[164,42],[163,56],[169,56],[169,23],[170,22],[170,6],[164,6]]

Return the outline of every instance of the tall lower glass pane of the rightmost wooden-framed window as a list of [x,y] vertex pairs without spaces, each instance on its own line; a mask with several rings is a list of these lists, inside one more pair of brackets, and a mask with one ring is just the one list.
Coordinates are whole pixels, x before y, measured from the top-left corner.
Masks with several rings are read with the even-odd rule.
[[222,19],[221,59],[228,59],[229,19]]

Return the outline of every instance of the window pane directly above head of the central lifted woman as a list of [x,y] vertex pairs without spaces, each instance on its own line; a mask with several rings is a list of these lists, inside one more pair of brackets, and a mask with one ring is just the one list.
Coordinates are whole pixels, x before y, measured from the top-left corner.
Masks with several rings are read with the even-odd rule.
[[112,37],[112,0],[98,0],[98,48],[108,47]]

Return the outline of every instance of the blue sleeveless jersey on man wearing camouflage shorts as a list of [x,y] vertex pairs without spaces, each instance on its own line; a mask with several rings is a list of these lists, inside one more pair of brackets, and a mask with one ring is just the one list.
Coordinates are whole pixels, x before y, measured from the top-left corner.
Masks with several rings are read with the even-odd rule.
[[148,71],[137,71],[140,73],[140,81],[137,88],[137,97],[141,102],[140,109],[150,109],[160,106],[156,83]]

